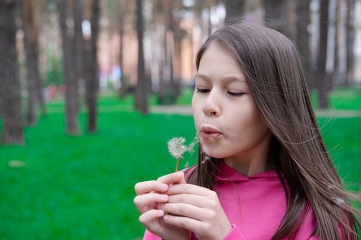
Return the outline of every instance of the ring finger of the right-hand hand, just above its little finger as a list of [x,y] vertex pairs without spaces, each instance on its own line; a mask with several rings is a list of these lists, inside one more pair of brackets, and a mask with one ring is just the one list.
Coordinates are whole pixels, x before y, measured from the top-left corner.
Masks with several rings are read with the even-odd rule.
[[172,215],[190,217],[197,220],[211,219],[213,211],[207,208],[199,208],[190,204],[158,204],[158,208]]

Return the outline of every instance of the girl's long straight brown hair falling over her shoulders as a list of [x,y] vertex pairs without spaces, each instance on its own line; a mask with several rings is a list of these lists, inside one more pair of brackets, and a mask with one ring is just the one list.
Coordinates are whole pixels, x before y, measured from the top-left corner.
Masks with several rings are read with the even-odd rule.
[[[291,41],[273,29],[247,23],[224,25],[199,49],[196,66],[211,43],[228,51],[243,71],[254,101],[270,128],[268,163],[280,178],[287,195],[287,210],[272,240],[292,237],[303,221],[305,209],[314,210],[322,240],[358,239],[356,215],[360,215],[342,186],[309,100],[298,53]],[[201,151],[197,169],[187,182],[215,189],[215,173],[221,159]]]

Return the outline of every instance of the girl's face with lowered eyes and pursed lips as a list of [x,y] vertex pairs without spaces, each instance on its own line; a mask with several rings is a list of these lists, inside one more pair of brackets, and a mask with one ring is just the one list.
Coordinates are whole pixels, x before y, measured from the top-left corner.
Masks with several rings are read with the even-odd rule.
[[[204,152],[214,158],[252,160],[267,154],[270,130],[237,60],[212,43],[199,62],[192,100]],[[226,160],[226,159],[225,159]]]

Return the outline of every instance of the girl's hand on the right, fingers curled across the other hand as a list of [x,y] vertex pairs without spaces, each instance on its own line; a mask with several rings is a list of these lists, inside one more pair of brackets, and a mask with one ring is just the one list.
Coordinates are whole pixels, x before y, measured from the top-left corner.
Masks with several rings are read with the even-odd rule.
[[217,193],[193,184],[177,184],[169,187],[167,203],[158,205],[166,213],[162,217],[167,224],[186,228],[198,239],[223,239],[232,229],[224,213]]

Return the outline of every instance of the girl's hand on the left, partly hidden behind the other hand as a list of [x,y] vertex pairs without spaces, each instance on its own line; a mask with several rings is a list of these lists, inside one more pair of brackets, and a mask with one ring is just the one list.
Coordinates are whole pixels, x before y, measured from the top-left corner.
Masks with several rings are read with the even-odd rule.
[[153,234],[162,239],[189,239],[188,230],[166,224],[162,219],[164,211],[157,209],[159,203],[168,202],[169,197],[166,195],[168,185],[175,183],[185,183],[182,171],[162,176],[156,181],[138,182],[134,187],[137,193],[134,204],[142,213],[139,217],[140,223]]

